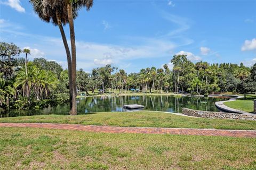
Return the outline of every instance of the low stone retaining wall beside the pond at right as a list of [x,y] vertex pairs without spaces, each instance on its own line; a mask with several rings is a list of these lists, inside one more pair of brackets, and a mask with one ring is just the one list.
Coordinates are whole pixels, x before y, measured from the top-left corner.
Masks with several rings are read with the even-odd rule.
[[225,113],[225,112],[208,112],[208,111],[197,111],[188,108],[182,108],[182,114],[195,117],[205,118],[223,118],[223,119],[237,119],[237,120],[250,120],[256,121],[256,115],[244,115],[237,113]]

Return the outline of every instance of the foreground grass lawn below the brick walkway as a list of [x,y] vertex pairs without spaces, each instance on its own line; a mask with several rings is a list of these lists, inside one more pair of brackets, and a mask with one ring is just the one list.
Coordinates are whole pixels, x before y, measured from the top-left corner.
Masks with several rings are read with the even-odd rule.
[[0,169],[256,169],[256,139],[0,128]]

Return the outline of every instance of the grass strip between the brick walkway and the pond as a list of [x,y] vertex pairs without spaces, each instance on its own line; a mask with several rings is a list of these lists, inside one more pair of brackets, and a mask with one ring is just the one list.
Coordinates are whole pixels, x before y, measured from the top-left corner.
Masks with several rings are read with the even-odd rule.
[[0,122],[69,123],[131,127],[256,130],[256,121],[193,118],[161,112],[102,112],[87,115],[39,115],[0,118]]

